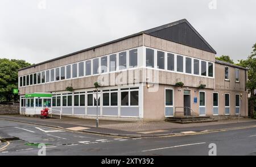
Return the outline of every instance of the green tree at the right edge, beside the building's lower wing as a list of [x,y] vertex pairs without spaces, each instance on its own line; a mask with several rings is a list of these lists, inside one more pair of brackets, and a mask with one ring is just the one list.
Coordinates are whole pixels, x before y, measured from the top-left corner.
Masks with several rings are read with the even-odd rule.
[[255,107],[256,94],[256,43],[253,45],[253,52],[246,60],[238,60],[239,65],[248,69],[248,81],[246,83],[247,89],[250,91],[251,97],[249,98],[249,114],[252,117]]

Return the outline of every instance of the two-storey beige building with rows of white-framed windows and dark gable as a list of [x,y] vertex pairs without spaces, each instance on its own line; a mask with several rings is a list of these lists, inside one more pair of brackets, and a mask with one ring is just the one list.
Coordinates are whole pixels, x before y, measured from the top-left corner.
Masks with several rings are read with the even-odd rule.
[[186,19],[142,31],[20,69],[20,114],[95,118],[98,82],[100,119],[247,116],[247,70],[215,55]]

